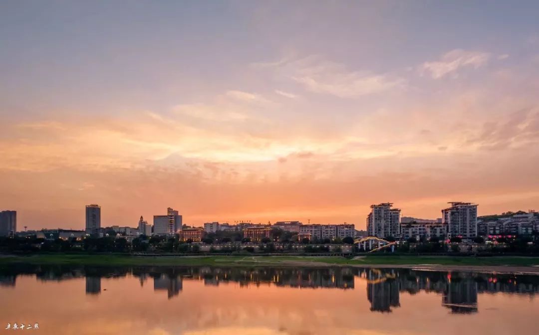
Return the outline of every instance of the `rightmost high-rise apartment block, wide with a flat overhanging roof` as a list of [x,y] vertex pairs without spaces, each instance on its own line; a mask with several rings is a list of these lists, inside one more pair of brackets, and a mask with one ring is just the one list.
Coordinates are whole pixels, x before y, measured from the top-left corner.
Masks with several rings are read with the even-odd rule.
[[447,225],[449,238],[460,236],[473,239],[477,236],[477,204],[453,202],[451,207],[441,210],[441,220]]

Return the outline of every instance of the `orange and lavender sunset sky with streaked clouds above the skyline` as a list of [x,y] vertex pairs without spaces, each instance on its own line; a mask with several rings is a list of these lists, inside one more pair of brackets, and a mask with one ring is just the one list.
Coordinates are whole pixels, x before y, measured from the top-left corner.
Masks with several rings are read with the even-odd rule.
[[539,2],[0,2],[18,229],[539,210]]

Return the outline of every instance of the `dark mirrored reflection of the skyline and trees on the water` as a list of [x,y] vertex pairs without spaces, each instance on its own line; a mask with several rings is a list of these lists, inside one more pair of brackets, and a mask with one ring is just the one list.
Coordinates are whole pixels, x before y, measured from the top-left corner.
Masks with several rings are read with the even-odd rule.
[[374,268],[220,268],[220,267],[94,267],[34,266],[15,264],[0,268],[1,287],[15,286],[17,276],[36,276],[39,281],[86,279],[86,294],[101,293],[101,278],[133,276],[141,286],[153,281],[155,291],[177,296],[183,281],[203,281],[205,285],[238,283],[275,285],[289,288],[354,289],[355,279],[367,282],[371,311],[391,312],[400,306],[400,292],[414,295],[420,291],[441,296],[441,305],[452,313],[478,311],[478,294],[506,292],[535,295],[539,276],[485,274],[462,271],[425,271]]

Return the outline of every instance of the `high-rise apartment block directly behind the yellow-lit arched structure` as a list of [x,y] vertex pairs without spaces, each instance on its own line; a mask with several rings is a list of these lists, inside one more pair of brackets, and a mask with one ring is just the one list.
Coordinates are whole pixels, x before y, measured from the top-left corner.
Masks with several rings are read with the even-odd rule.
[[371,205],[367,216],[367,232],[377,238],[400,237],[400,210],[391,208],[392,203]]

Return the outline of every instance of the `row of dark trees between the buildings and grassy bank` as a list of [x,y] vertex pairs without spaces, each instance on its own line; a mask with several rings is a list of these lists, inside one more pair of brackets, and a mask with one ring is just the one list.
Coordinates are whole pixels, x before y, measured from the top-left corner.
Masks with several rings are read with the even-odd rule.
[[[210,252],[215,253],[232,253],[232,252],[254,252],[255,249],[260,252],[275,252],[298,250],[297,246],[294,247],[292,241],[280,242],[279,247],[275,245],[272,238],[264,238],[258,246],[245,245],[244,243],[251,242],[249,239],[241,238],[240,240],[230,238],[229,236],[214,236],[219,242],[213,240],[211,236],[206,237],[203,243],[210,245]],[[391,240],[391,239],[389,239]],[[461,242],[460,238],[452,238],[451,242]],[[232,243],[229,243],[232,242]],[[235,242],[235,243],[234,243]],[[243,242],[243,243],[241,243]],[[330,245],[333,242],[334,246]],[[492,253],[539,253],[539,239],[537,236],[520,236],[518,238],[499,238],[496,239],[496,244],[485,245],[485,240],[481,237],[475,238],[474,242],[477,245],[482,246],[482,251]],[[309,239],[303,239],[300,241],[302,250],[305,252],[340,252],[338,245],[348,244],[352,245],[354,239],[347,237],[342,240],[335,239],[330,241],[329,239],[310,241]],[[219,246],[217,246],[218,244]],[[337,245],[335,245],[337,244]],[[214,246],[215,245],[215,246]],[[367,250],[360,249],[361,246],[356,246],[355,251],[363,252]],[[470,247],[471,248],[471,247]],[[416,239],[408,239],[398,243],[396,247],[398,252],[407,253],[441,253],[441,252],[458,252],[466,251],[461,250],[460,246],[456,243],[444,243],[438,238],[434,237],[429,240],[421,238],[419,241]],[[106,236],[103,238],[86,238],[82,241],[76,239],[69,240],[46,240],[37,239],[35,236],[27,236],[25,238],[0,238],[0,252],[108,252],[108,253],[132,253],[132,252],[157,252],[157,253],[196,253],[200,251],[200,245],[198,243],[192,243],[188,240],[182,242],[179,240],[179,236],[140,236],[129,242],[125,238],[119,238],[118,236]],[[471,250],[470,250],[471,251]]]

